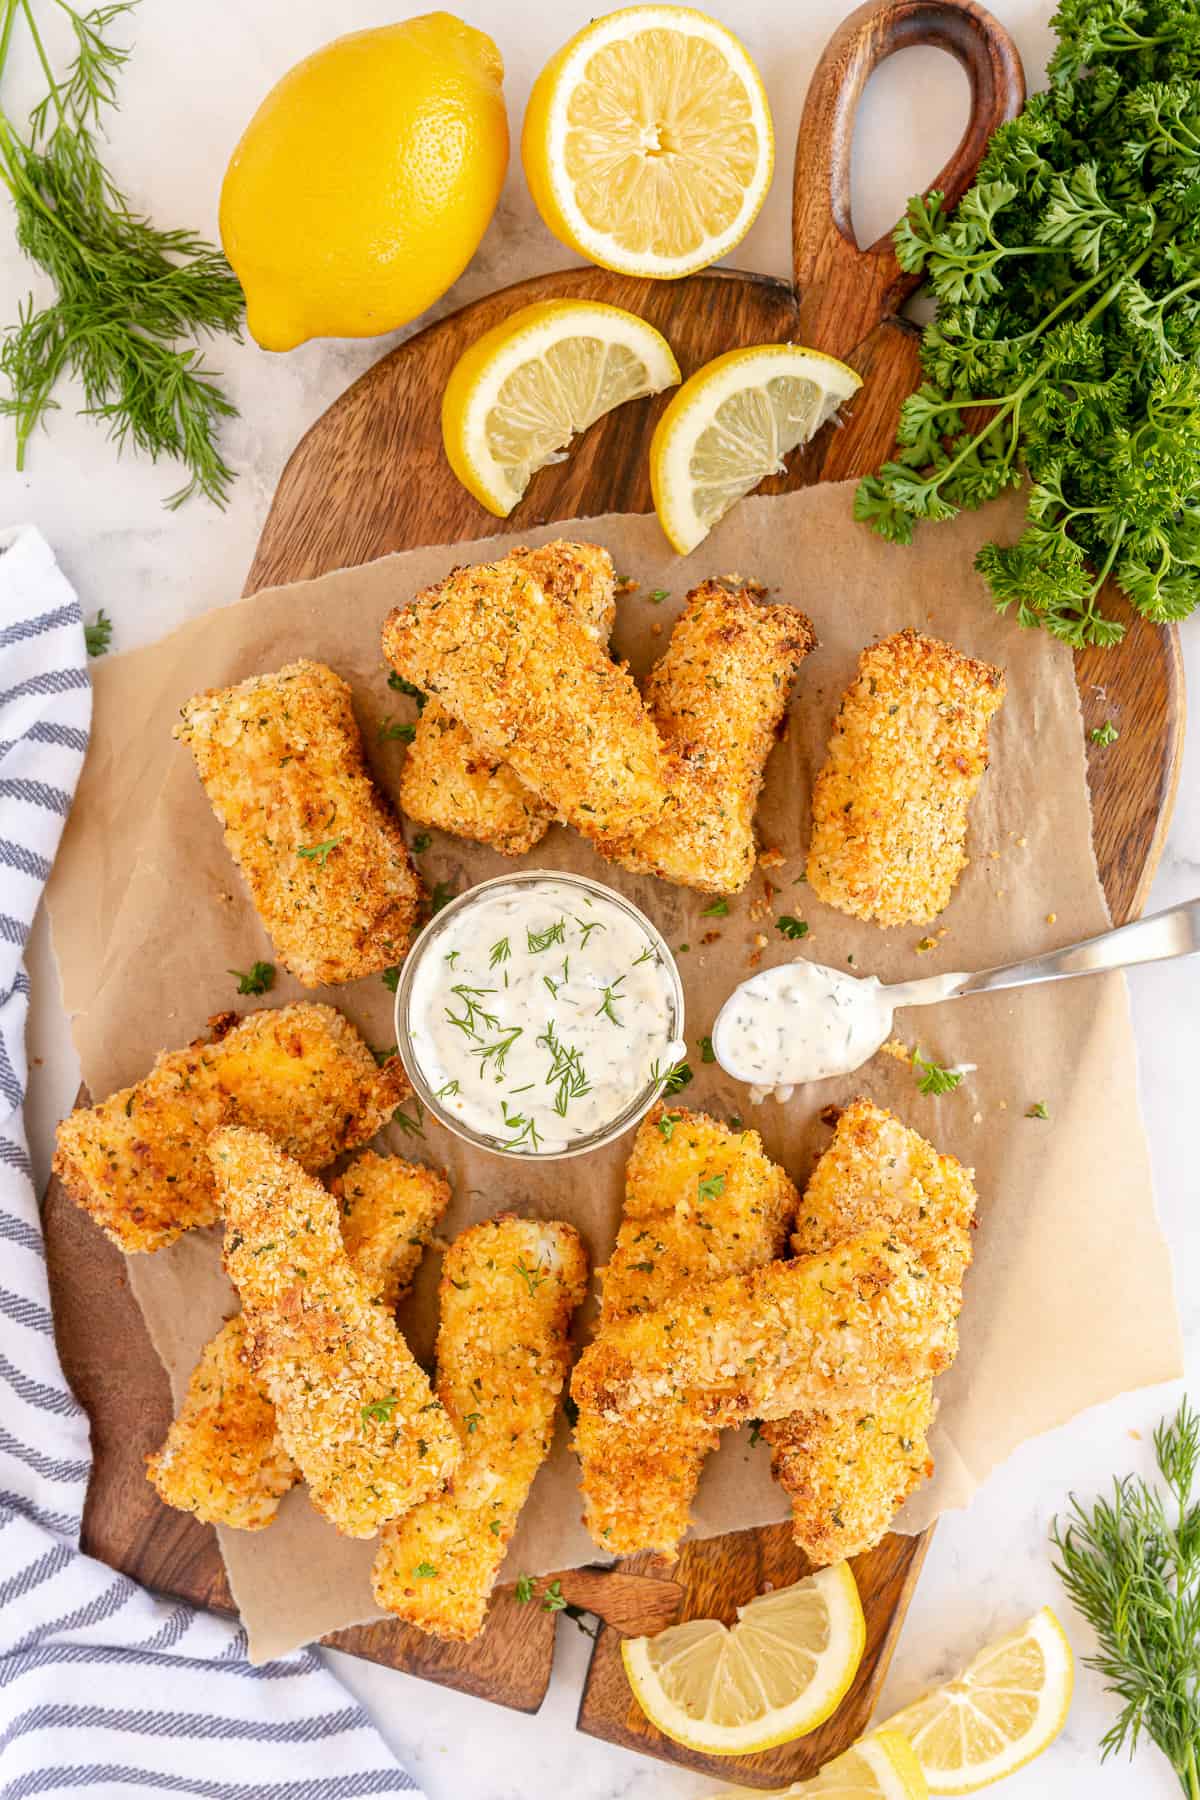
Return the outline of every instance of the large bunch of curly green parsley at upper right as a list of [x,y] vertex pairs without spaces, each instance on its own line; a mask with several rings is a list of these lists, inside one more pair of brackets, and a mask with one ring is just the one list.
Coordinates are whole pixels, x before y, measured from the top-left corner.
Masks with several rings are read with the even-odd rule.
[[1200,603],[1200,5],[1063,0],[1052,23],[1049,92],[952,216],[932,193],[896,229],[939,306],[855,515],[907,544],[1027,475],[1025,531],[977,558],[997,608],[1112,644],[1108,576],[1155,621]]

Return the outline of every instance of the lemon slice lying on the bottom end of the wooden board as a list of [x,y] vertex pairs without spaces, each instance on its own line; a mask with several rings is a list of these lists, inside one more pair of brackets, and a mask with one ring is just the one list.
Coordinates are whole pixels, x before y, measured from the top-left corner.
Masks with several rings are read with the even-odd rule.
[[815,1732],[862,1661],[867,1627],[849,1562],[738,1607],[626,1638],[624,1672],[646,1717],[691,1750],[738,1757]]

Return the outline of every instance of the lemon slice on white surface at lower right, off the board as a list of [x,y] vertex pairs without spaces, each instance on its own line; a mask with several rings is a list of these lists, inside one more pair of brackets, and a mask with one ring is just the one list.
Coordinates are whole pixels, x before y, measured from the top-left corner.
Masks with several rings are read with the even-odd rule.
[[1024,1768],[1051,1744],[1070,1708],[1074,1658],[1049,1606],[981,1651],[946,1681],[894,1714],[932,1795],[970,1795]]

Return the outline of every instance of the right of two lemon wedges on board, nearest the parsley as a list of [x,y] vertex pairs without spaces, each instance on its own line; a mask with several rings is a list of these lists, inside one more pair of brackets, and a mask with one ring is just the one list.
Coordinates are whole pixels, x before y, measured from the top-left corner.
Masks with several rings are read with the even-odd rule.
[[685,556],[718,518],[856,394],[862,376],[802,344],[730,349],[687,380],[658,419],[649,484],[658,522]]

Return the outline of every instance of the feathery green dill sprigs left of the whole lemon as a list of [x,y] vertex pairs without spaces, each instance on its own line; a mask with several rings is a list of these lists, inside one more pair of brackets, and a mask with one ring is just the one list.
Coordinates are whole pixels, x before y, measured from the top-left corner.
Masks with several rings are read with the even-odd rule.
[[218,432],[234,403],[203,364],[198,337],[239,335],[237,277],[210,243],[189,230],[160,230],[130,211],[101,162],[95,131],[117,99],[117,74],[130,52],[110,27],[133,0],[77,13],[54,0],[74,32],[76,56],[56,77],[34,0],[0,0],[0,76],[18,20],[25,25],[47,95],[25,133],[0,106],[0,184],[16,212],[16,243],[54,293],[29,295],[0,346],[0,414],[16,427],[16,468],[34,428],[58,407],[54,389],[74,376],[83,410],[153,461],[175,457],[187,482],[167,499],[182,506],[203,493],[223,506],[234,472]]

